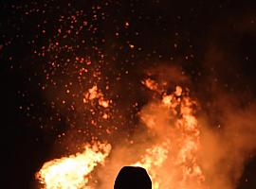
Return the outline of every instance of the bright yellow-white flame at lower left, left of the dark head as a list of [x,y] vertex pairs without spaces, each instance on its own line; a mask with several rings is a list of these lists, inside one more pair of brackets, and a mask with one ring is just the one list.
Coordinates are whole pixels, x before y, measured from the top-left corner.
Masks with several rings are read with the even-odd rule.
[[89,174],[99,163],[104,163],[110,150],[111,146],[108,144],[84,146],[82,153],[45,163],[36,174],[36,179],[40,180],[46,189],[84,188],[88,183]]

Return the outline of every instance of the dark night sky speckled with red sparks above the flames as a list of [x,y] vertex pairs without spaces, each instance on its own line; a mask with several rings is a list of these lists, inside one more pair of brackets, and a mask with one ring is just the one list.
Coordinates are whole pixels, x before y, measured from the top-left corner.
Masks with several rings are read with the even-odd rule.
[[[33,188],[43,163],[81,141],[132,137],[148,100],[146,70],[175,66],[189,77],[212,128],[215,95],[234,97],[241,110],[256,102],[254,1],[4,0],[0,15],[3,188]],[[95,83],[113,109],[80,106]],[[113,118],[99,119],[104,113]],[[237,189],[256,188],[255,154]]]

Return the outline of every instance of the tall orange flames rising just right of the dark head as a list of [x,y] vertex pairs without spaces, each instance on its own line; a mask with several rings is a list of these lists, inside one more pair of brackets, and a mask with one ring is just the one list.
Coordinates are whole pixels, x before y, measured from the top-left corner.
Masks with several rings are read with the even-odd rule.
[[[148,86],[156,93],[157,88]],[[141,111],[141,120],[155,133],[156,146],[135,165],[146,168],[153,188],[204,188],[205,176],[198,163],[200,126],[194,116],[196,102],[180,86],[174,93],[161,94]]]

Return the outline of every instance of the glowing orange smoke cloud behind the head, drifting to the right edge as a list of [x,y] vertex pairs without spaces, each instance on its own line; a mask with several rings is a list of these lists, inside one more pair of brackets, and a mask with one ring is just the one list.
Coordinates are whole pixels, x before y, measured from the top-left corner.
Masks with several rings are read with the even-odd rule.
[[[159,93],[163,93],[162,89],[165,86],[160,85],[165,85],[165,83],[168,83],[166,86],[169,87],[173,83],[171,89],[174,89],[177,83],[188,87],[192,85],[189,77],[178,74],[181,72],[178,72],[177,68],[165,67],[163,69],[163,67],[155,69],[161,70],[160,72],[150,71],[149,75],[155,78]],[[172,79],[167,77],[170,70],[175,70],[176,79],[174,75],[172,75]],[[160,73],[160,76],[157,73]],[[194,101],[191,99],[192,105],[189,106],[193,111],[192,118],[194,116],[198,121],[195,122],[200,131],[198,138],[197,129],[194,132],[175,129],[176,124],[186,117],[181,112],[174,112],[177,107],[182,106],[182,103],[175,106],[175,103],[172,102],[174,107],[170,109],[170,107],[163,106],[162,101],[152,95],[154,97],[137,114],[140,119],[139,128],[144,129],[134,131],[129,145],[116,144],[106,166],[99,169],[98,177],[101,178],[101,188],[113,186],[121,166],[136,163],[137,160],[146,157],[153,162],[160,158],[164,159],[163,163],[156,163],[156,166],[151,164],[149,168],[150,173],[156,173],[154,181],[160,182],[159,188],[235,189],[244,171],[245,163],[256,152],[256,104],[245,104],[244,95],[221,91],[217,85],[212,87],[208,93],[210,101],[206,101],[206,98],[200,99],[200,96],[197,98],[194,96],[197,102],[193,104]],[[183,95],[189,97],[187,96],[189,92],[183,92]],[[176,97],[180,99],[178,96]],[[194,106],[197,107],[197,112]],[[198,111],[199,106],[200,110]],[[183,162],[191,164],[183,166],[182,163],[177,162],[180,161],[180,151],[188,147],[186,143],[182,143],[182,140],[186,141],[187,139],[184,135],[190,139],[187,142],[194,146],[186,151],[186,160]],[[121,141],[121,137],[118,141]],[[197,142],[199,143],[198,149]],[[154,146],[163,147],[168,152],[166,154],[164,154],[165,152],[163,154],[148,153],[146,149],[152,149]],[[191,171],[189,179],[186,178],[186,174],[184,175],[184,170]],[[198,183],[200,184],[198,185]]]

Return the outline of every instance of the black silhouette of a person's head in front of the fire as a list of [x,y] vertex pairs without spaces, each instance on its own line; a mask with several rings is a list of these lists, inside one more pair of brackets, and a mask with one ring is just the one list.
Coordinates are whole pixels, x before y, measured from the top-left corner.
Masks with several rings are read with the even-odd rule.
[[115,180],[114,189],[152,189],[152,182],[144,168],[124,166]]

